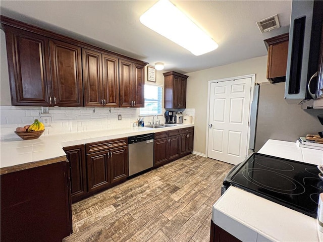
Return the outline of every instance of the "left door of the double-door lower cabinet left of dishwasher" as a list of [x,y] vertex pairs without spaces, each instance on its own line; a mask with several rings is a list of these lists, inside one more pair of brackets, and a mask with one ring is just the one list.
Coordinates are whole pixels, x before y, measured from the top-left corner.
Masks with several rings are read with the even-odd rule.
[[88,191],[93,192],[110,185],[110,167],[108,151],[87,155]]

